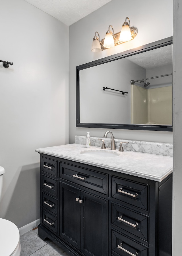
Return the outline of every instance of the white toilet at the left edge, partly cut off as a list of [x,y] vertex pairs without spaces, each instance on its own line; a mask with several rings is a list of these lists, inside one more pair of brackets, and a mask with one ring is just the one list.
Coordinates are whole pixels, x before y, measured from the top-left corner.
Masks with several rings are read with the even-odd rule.
[[[0,166],[0,201],[5,169]],[[0,255],[20,256],[20,233],[14,223],[0,218]]]

